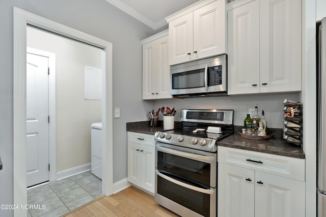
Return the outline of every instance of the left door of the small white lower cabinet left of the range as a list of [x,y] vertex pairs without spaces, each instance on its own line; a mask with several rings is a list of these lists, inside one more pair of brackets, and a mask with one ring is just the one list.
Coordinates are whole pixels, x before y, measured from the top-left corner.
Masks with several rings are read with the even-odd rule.
[[141,153],[140,145],[128,142],[128,181],[141,185]]

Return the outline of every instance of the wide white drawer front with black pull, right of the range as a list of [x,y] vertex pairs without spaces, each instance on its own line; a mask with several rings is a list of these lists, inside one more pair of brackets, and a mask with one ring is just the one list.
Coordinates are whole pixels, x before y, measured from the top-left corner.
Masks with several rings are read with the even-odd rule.
[[218,146],[218,162],[305,181],[305,160]]

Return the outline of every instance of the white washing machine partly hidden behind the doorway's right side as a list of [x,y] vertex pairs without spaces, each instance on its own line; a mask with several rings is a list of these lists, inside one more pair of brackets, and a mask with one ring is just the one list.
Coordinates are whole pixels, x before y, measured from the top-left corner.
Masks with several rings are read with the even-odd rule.
[[91,172],[102,179],[102,123],[91,125]]

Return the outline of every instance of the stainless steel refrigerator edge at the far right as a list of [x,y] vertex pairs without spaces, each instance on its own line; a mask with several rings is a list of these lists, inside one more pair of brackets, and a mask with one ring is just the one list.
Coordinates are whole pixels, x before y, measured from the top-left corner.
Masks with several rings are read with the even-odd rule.
[[319,26],[319,49],[318,49],[318,183],[317,183],[317,216],[326,216],[326,17],[321,20]]

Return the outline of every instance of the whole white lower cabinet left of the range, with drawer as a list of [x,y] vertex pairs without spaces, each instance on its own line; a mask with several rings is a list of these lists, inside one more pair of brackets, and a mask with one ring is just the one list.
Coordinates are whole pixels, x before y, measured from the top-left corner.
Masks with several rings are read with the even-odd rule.
[[154,136],[128,132],[128,181],[154,194]]

